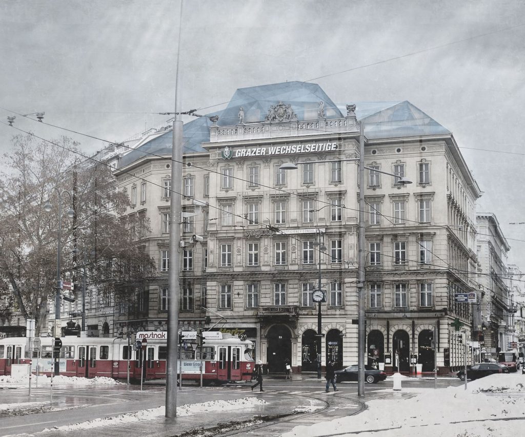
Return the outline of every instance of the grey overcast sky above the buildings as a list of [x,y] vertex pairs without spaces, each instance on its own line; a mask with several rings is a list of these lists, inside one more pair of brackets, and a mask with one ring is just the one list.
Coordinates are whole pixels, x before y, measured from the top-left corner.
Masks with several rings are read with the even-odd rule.
[[[484,191],[478,211],[497,215],[525,270],[525,225],[509,225],[525,221],[524,17],[523,0],[185,0],[182,110],[287,80],[312,80],[337,103],[408,100],[453,132]],[[163,123],[178,18],[176,0],[0,0],[0,152],[18,133],[10,111],[108,141]],[[15,125],[74,137],[86,154],[104,146]]]

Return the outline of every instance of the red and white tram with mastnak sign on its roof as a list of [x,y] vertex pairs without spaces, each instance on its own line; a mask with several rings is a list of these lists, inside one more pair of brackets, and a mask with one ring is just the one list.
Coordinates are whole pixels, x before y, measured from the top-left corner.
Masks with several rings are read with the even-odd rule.
[[[179,345],[177,373],[183,380],[199,381],[203,363],[203,383],[243,381],[254,368],[254,344],[250,340],[217,331],[203,332],[199,346],[195,332],[183,332]],[[140,349],[127,338],[62,337],[60,375],[93,378],[107,376],[135,380],[165,379],[167,333],[144,331],[135,336]],[[27,337],[0,339],[0,375],[10,375],[13,364],[31,364],[50,375],[54,368],[53,337],[38,337],[29,345]],[[201,359],[202,356],[202,359]],[[182,370],[182,371],[181,371]]]

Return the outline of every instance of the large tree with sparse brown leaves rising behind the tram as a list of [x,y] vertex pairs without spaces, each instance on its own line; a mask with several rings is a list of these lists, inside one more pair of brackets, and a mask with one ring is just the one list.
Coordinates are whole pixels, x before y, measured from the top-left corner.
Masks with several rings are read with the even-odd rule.
[[[130,287],[148,280],[154,262],[140,244],[148,223],[139,215],[119,218],[129,199],[117,191],[108,166],[80,161],[78,144],[70,138],[50,143],[19,135],[13,138],[13,152],[4,156],[4,168],[0,296],[8,291],[15,311],[36,319],[37,327],[44,321],[48,299],[56,293],[58,244],[62,279],[78,282],[80,269],[87,267],[91,287],[104,295],[131,292]],[[43,209],[46,201],[53,205],[49,212]],[[72,219],[66,215],[69,208],[75,211]],[[88,252],[84,266],[80,254]]]

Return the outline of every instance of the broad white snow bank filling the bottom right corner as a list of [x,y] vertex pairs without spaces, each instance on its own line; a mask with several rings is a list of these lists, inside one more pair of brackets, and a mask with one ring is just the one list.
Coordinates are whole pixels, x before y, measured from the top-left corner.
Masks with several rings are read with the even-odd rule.
[[521,373],[497,374],[468,382],[467,390],[461,385],[424,389],[412,398],[393,395],[367,401],[368,409],[360,414],[308,427],[301,425],[283,437],[336,433],[338,437],[352,437],[356,431],[362,431],[360,437],[421,437],[422,433],[432,437],[516,437],[525,421],[508,419],[525,419],[524,387]]

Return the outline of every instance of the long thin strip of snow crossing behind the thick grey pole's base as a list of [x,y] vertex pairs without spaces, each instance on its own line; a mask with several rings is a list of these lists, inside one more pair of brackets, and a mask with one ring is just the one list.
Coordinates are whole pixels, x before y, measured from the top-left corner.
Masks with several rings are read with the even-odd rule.
[[[177,417],[209,413],[212,411],[246,410],[259,405],[263,405],[265,403],[266,401],[264,399],[258,399],[256,397],[246,397],[230,401],[216,400],[201,403],[191,403],[178,407]],[[139,422],[142,420],[153,420],[160,416],[164,416],[165,414],[165,407],[151,408],[149,410],[141,410],[134,413],[120,414],[115,417],[100,418],[86,422],[75,423],[72,425],[64,425],[63,427],[55,427],[53,429],[46,428],[42,432],[75,431],[99,427],[109,427],[113,425],[119,425],[122,423]]]

